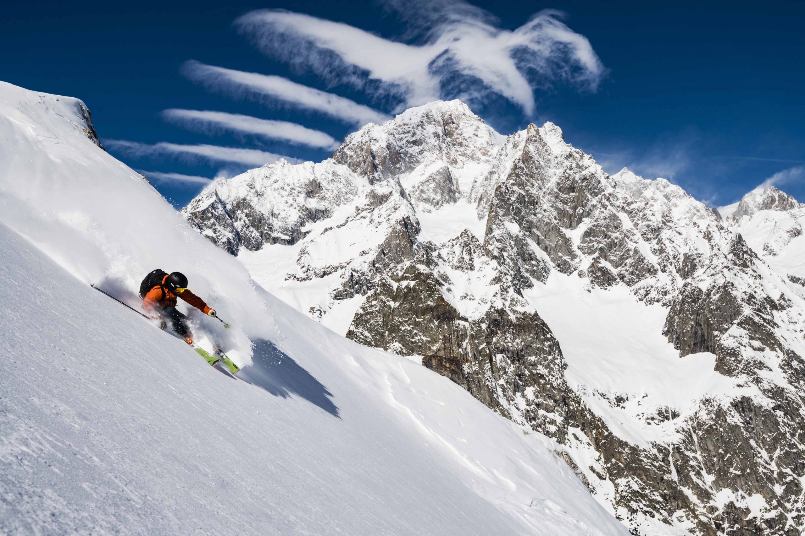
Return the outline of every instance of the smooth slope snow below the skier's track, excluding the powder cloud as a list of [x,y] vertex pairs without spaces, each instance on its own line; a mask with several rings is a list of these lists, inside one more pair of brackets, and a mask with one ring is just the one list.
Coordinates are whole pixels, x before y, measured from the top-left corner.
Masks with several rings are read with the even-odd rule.
[[283,350],[258,342],[233,380],[0,243],[2,530],[622,534],[550,440],[414,362],[264,294]]

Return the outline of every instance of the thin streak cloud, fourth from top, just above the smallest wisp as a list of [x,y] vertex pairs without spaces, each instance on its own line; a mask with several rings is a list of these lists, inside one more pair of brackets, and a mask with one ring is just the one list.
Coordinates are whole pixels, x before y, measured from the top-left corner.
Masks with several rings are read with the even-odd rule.
[[149,145],[139,141],[126,140],[104,140],[104,144],[109,149],[118,150],[134,158],[168,156],[190,162],[236,162],[244,166],[264,166],[277,162],[280,158],[291,163],[299,162],[296,158],[283,157],[280,154],[267,153],[258,149],[239,149],[220,145],[180,145],[167,141]]

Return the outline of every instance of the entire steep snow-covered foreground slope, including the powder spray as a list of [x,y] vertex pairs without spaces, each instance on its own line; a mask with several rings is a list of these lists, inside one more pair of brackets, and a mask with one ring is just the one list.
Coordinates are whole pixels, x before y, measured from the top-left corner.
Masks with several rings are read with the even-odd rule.
[[[0,83],[0,532],[625,534],[552,440],[259,288],[84,110]],[[155,266],[236,326],[239,380],[89,287]]]

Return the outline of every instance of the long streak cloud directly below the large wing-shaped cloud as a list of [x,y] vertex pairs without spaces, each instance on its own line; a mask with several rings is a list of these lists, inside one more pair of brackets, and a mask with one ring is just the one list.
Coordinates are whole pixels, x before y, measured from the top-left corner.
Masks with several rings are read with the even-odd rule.
[[323,113],[349,125],[362,126],[390,119],[385,113],[357,104],[354,100],[309,88],[282,76],[235,71],[195,60],[185,62],[181,72],[189,80],[213,91]]

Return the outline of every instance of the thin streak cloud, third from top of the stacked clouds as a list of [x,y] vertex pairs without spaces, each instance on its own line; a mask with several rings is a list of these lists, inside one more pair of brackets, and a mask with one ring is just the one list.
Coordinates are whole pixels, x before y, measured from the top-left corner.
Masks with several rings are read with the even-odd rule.
[[237,113],[209,110],[184,110],[170,108],[163,111],[165,120],[202,130],[206,133],[229,131],[254,134],[271,140],[285,141],[294,145],[308,145],[317,149],[336,149],[338,141],[328,133],[308,129],[297,123],[272,121]]

